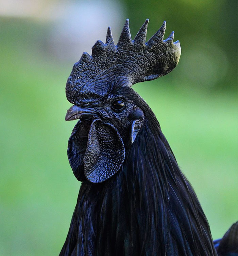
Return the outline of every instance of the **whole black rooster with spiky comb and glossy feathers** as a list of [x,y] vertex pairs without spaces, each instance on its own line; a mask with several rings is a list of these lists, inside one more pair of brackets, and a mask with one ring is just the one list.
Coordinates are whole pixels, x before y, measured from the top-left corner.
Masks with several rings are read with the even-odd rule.
[[146,43],[148,21],[132,40],[127,19],[116,46],[108,28],[106,43],[97,41],[91,56],[84,52],[67,80],[74,105],[66,120],[79,119],[68,158],[82,184],[60,255],[217,255],[194,190],[131,87],[179,62],[174,32],[163,39],[165,22]]

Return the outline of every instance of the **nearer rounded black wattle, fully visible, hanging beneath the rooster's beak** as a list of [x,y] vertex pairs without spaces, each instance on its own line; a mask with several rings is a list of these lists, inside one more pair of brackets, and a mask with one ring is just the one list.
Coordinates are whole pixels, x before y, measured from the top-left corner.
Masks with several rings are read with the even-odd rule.
[[125,159],[125,148],[117,129],[95,119],[88,133],[84,155],[84,175],[93,183],[111,178],[119,171]]

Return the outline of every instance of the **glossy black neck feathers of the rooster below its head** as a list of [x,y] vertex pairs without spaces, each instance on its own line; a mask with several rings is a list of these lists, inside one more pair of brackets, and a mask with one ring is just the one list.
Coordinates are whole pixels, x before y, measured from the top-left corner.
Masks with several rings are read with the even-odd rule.
[[82,182],[61,255],[217,255],[197,196],[150,116],[115,176]]

